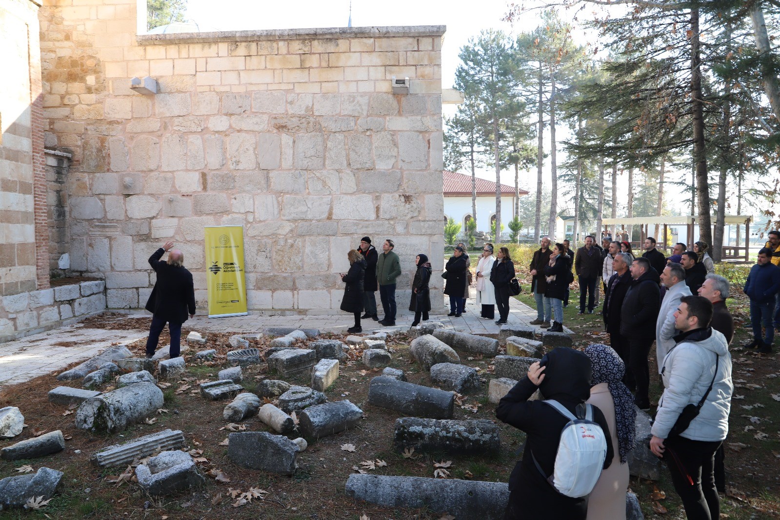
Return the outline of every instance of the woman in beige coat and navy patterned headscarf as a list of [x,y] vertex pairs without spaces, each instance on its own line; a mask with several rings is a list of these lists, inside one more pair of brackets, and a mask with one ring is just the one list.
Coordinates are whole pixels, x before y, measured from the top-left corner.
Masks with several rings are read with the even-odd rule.
[[612,464],[601,472],[590,492],[587,504],[588,520],[626,520],[626,490],[629,486],[629,451],[635,442],[636,408],[633,395],[622,383],[626,366],[618,353],[607,345],[588,345],[585,356],[590,359],[591,405],[604,413],[612,433]]

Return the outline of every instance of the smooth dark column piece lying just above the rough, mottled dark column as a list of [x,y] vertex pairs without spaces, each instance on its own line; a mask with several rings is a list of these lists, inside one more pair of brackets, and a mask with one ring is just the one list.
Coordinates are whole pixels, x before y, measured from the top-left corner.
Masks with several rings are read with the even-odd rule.
[[392,377],[378,376],[374,377],[369,385],[368,402],[405,416],[452,419],[455,394]]

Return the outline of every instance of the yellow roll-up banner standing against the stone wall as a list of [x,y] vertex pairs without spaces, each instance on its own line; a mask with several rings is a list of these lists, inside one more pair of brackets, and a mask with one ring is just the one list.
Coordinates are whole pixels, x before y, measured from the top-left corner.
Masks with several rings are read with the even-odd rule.
[[208,317],[246,316],[243,226],[206,226]]

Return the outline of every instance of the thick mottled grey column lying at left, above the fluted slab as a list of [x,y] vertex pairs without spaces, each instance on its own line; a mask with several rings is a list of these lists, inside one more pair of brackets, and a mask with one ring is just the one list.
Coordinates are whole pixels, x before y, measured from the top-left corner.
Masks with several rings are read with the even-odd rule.
[[156,385],[131,384],[83,401],[76,410],[76,427],[117,433],[151,416],[162,403],[162,391]]

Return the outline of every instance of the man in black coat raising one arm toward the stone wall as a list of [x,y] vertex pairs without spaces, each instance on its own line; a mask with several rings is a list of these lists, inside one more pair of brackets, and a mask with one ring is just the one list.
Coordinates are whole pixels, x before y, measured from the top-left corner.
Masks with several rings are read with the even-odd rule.
[[[173,242],[165,242],[161,248],[149,257],[149,264],[157,273],[157,281],[151,290],[146,310],[152,313],[146,356],[151,358],[160,341],[160,333],[165,324],[171,333],[171,359],[179,357],[182,338],[182,324],[195,316],[195,288],[193,275],[184,267],[184,253],[179,249],[170,250]],[[168,261],[160,259],[168,252]]]

